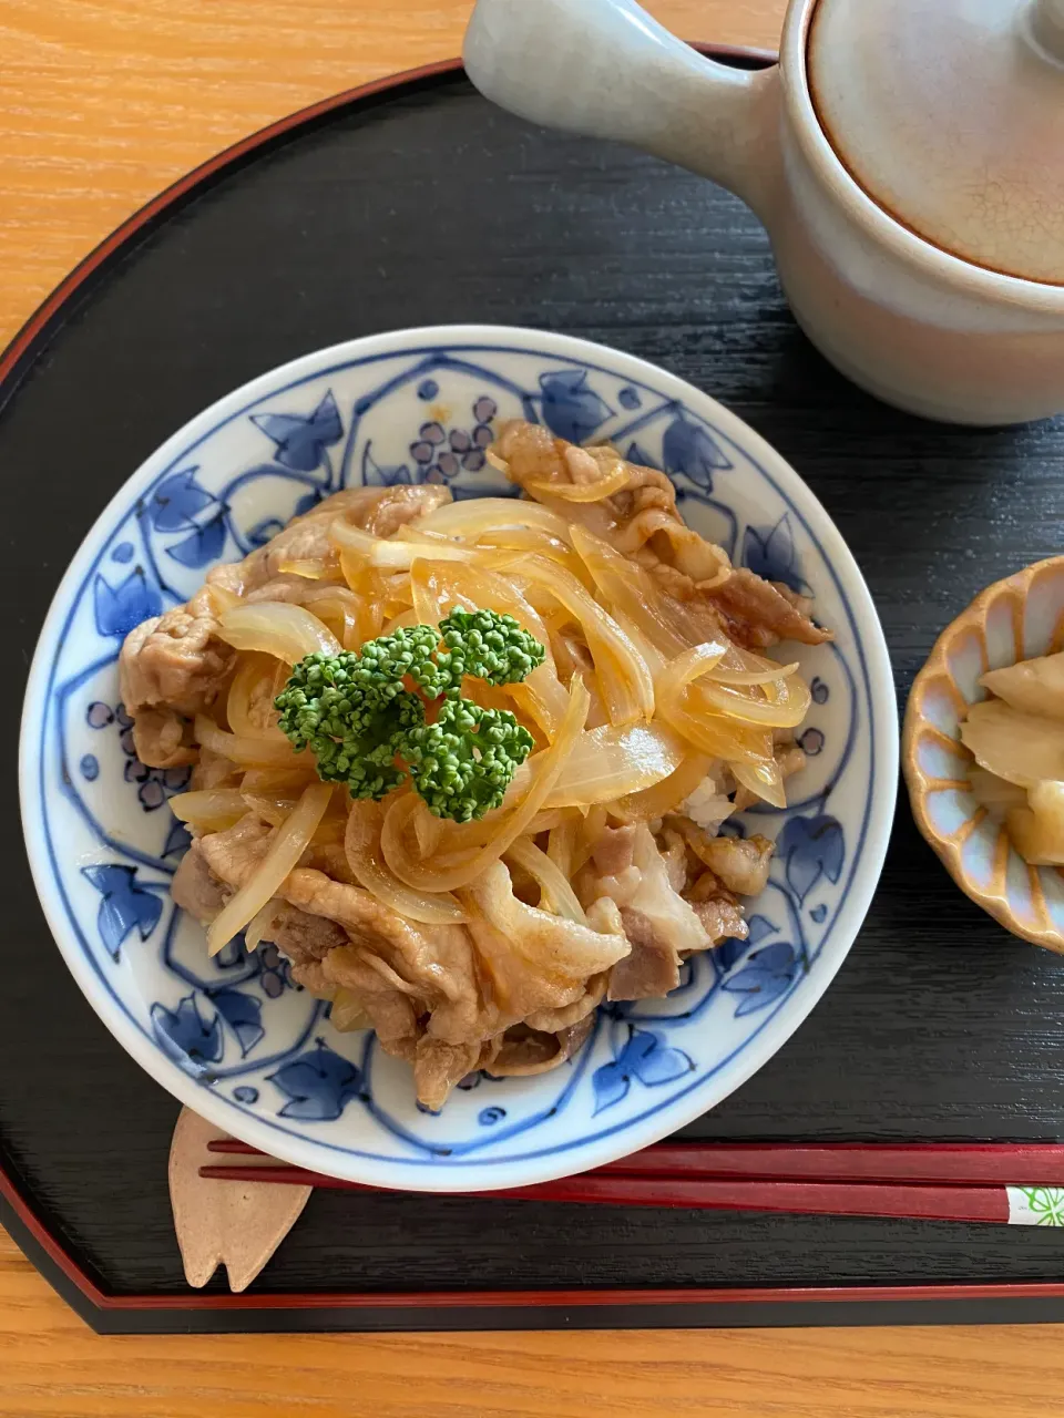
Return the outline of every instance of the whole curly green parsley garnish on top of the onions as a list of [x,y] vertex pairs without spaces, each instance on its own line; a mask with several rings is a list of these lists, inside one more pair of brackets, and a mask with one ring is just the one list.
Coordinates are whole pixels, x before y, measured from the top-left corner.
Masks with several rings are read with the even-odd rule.
[[[462,699],[462,676],[516,683],[543,658],[512,615],[454,610],[438,630],[414,625],[358,654],[308,655],[275,705],[281,729],[297,750],[314,752],[326,783],[382,798],[406,781],[406,764],[437,817],[468,822],[502,803],[532,735],[512,713]],[[427,723],[433,700],[438,713]]]

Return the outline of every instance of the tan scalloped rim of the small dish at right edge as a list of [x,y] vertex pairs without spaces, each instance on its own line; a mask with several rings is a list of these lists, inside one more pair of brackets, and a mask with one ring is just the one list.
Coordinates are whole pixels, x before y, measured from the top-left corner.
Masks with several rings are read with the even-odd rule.
[[[931,783],[933,781],[933,777],[924,771],[916,757],[916,736],[922,725],[931,722],[924,713],[924,695],[932,678],[942,675],[951,683],[956,683],[949,669],[948,655],[953,638],[963,631],[982,624],[985,621],[986,611],[999,596],[1012,593],[1019,594],[1026,600],[1030,583],[1038,571],[1044,571],[1048,567],[1058,567],[1060,570],[1064,570],[1064,556],[1047,556],[1041,562],[1033,562],[1030,566],[1024,566],[1019,571],[1013,571],[1010,576],[1003,576],[1000,580],[992,581],[990,586],[986,586],[975,597],[975,600],[972,600],[959,615],[955,615],[939,634],[931,654],[924,665],[921,665],[916,678],[912,681],[912,688],[909,689],[909,698],[905,705],[905,722],[902,727],[901,761],[902,774],[909,790],[912,818],[919,830],[919,834],[926,841],[928,847],[931,847],[935,852],[965,896],[968,896],[969,900],[973,900],[976,906],[982,906],[989,916],[993,916],[999,926],[1003,926],[1013,936],[1019,936],[1020,940],[1029,940],[1033,946],[1044,946],[1047,950],[1064,954],[1064,930],[1060,930],[1055,926],[1046,926],[1044,930],[1033,930],[1024,926],[1016,917],[1016,912],[1009,905],[1009,896],[1006,892],[983,891],[972,881],[969,873],[965,871],[962,855],[968,837],[962,841],[955,841],[953,838],[943,837],[939,831],[936,831],[928,811],[928,797],[932,791]],[[965,700],[966,705],[973,702],[975,700]],[[962,747],[960,740],[958,740],[958,747]],[[982,821],[982,818],[979,821]],[[1009,839],[1004,834],[1004,828],[1002,828],[1002,835],[1007,842]],[[1009,844],[1009,851],[1014,851],[1012,844]],[[1029,866],[1029,871],[1033,871],[1036,875],[1051,869],[1053,868]]]

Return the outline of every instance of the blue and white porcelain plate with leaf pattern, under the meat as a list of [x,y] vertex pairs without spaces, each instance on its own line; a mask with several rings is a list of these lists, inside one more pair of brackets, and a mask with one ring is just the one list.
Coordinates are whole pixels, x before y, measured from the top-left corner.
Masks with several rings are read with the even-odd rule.
[[[444,482],[506,495],[498,420],[611,440],[664,468],[687,520],[736,563],[816,596],[836,641],[800,651],[809,767],[775,837],[750,936],[698,956],[665,1000],[599,1011],[541,1078],[467,1079],[438,1115],[372,1034],[336,1034],[274,947],[207,959],[169,886],[187,838],[166,801],[186,770],[133,757],[122,638],[184,601],[338,488]],[[21,740],[26,838],[48,922],[99,1017],[189,1107],[338,1177],[461,1191],[582,1171],[664,1137],[745,1082],[806,1018],[853,944],[894,810],[897,718],[861,574],[787,464],[705,394],[630,354],[533,330],[453,326],[338,345],[264,374],[174,434],[112,499],[41,632]],[[77,1079],[71,1081],[77,1089]],[[786,1098],[780,1099],[786,1107]]]

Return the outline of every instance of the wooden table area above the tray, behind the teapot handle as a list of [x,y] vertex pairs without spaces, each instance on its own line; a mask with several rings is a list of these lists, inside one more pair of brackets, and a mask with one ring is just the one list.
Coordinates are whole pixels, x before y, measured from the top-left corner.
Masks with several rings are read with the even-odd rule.
[[[328,94],[461,50],[470,0],[3,0],[0,346],[131,211]],[[775,48],[783,0],[654,0]]]

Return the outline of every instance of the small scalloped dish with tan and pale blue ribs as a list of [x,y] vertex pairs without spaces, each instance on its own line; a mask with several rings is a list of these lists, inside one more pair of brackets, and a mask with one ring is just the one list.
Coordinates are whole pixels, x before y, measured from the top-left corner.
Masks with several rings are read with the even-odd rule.
[[960,743],[980,675],[1064,648],[1064,556],[989,586],[939,635],[905,710],[904,769],[916,825],[958,886],[1006,930],[1064,953],[1064,876],[1029,866],[972,794]]

